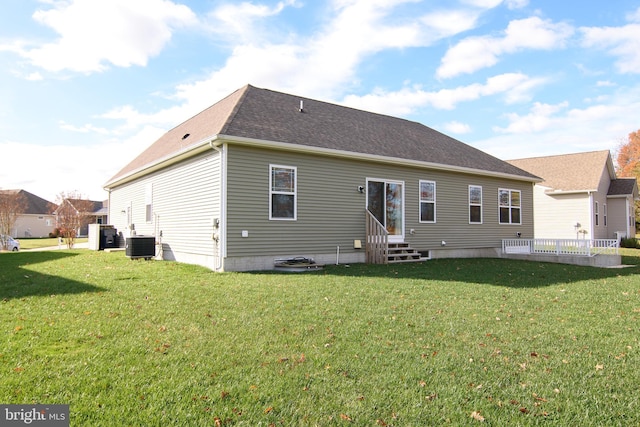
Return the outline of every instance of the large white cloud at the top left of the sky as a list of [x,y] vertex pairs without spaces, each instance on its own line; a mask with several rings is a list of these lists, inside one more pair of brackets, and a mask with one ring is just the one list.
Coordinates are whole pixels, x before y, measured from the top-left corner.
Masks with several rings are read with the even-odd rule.
[[56,1],[33,18],[58,39],[20,54],[48,71],[97,72],[109,64],[145,66],[169,42],[175,28],[193,25],[194,13],[169,0]]

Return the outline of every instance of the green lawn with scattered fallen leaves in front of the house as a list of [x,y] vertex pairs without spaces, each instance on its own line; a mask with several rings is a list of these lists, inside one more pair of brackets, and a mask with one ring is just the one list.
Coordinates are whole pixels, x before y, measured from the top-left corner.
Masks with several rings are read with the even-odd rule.
[[6,253],[0,403],[69,404],[92,426],[639,425],[638,273]]

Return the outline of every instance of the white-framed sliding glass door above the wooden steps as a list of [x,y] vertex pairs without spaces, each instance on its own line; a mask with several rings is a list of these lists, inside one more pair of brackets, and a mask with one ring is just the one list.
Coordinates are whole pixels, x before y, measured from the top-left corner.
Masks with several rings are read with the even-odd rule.
[[404,183],[367,181],[367,209],[389,232],[389,242],[404,241]]

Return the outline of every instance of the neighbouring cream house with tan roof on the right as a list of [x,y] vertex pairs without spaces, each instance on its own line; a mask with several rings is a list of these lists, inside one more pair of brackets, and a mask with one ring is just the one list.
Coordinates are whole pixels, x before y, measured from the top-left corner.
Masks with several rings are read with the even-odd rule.
[[635,236],[635,178],[617,178],[608,150],[509,160],[543,179],[534,189],[537,238]]

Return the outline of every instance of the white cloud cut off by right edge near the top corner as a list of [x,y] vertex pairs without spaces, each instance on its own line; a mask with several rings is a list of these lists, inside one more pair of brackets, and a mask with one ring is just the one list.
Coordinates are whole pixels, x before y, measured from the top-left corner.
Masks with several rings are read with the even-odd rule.
[[640,73],[640,9],[631,16],[634,23],[622,27],[582,27],[582,46],[605,51],[618,58],[620,73]]

